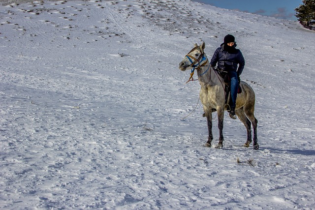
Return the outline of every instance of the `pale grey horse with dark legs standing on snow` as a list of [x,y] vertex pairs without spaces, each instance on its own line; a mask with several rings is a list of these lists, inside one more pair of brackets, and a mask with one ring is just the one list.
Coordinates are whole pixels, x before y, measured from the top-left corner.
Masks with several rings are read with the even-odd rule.
[[[194,70],[197,70],[200,89],[200,101],[203,105],[203,110],[208,122],[208,141],[205,147],[211,147],[213,140],[212,135],[212,112],[218,112],[218,127],[220,131],[219,144],[216,148],[223,147],[223,117],[225,107],[225,91],[224,79],[219,76],[217,70],[210,66],[210,62],[204,53],[205,43],[200,46],[195,44],[195,47],[185,56],[179,63],[179,69],[185,71],[191,69],[189,80],[192,78]],[[235,113],[237,117],[244,123],[247,129],[247,142],[244,147],[249,147],[252,143],[252,128],[253,127],[253,149],[258,150],[257,143],[257,120],[254,116],[255,109],[255,93],[252,88],[244,81],[241,81],[240,87],[242,92],[237,94]]]

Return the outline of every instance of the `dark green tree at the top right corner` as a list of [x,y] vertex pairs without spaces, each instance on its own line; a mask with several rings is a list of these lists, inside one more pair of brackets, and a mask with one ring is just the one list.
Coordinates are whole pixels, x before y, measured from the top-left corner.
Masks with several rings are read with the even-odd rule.
[[315,0],[302,0],[299,7],[295,8],[296,17],[304,27],[308,27],[315,20]]

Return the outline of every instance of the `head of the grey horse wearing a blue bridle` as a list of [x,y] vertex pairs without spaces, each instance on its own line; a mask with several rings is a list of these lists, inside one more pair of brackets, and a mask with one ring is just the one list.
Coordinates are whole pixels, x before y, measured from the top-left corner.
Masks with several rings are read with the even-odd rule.
[[197,67],[204,57],[205,42],[201,45],[194,44],[194,48],[185,56],[185,58],[179,63],[179,69],[185,71]]

